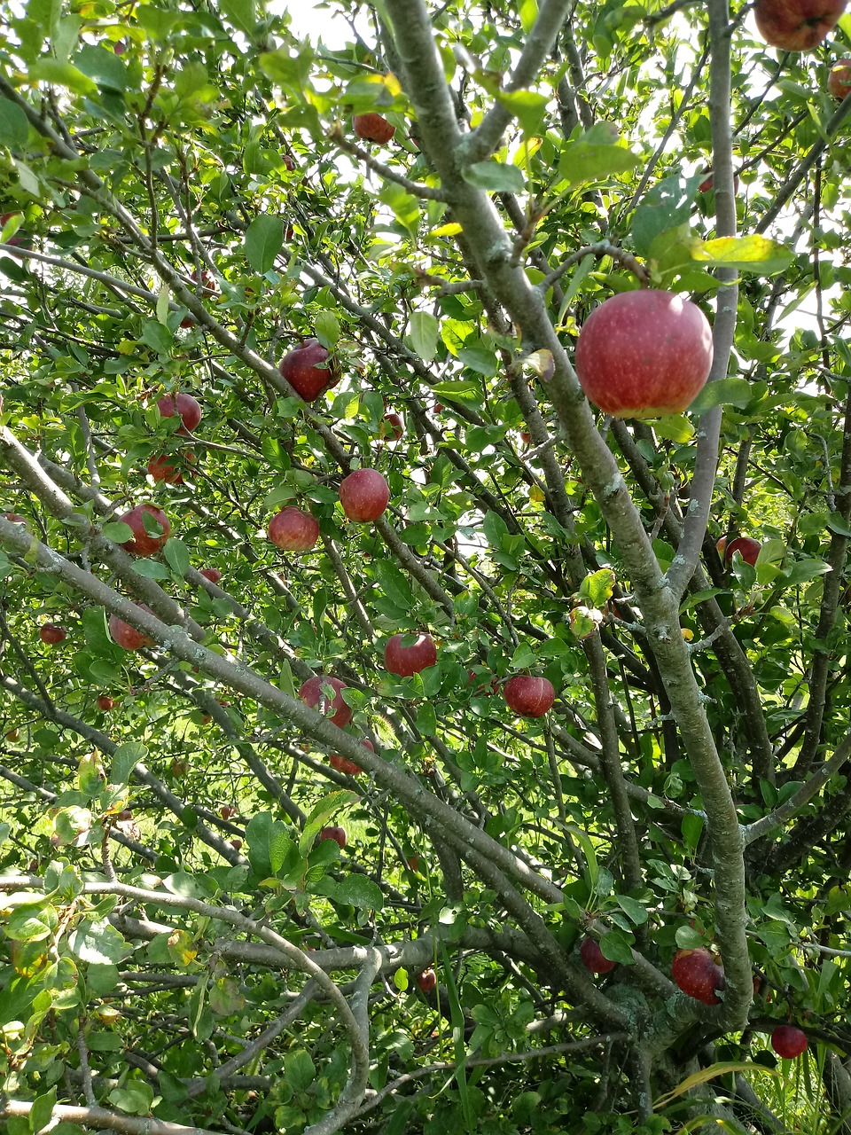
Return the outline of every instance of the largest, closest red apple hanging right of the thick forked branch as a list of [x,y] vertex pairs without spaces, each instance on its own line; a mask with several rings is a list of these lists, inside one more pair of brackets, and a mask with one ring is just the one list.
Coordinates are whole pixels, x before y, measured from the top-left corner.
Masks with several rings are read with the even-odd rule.
[[690,300],[642,288],[592,311],[576,343],[576,376],[590,402],[615,418],[685,410],[713,364],[713,331]]

